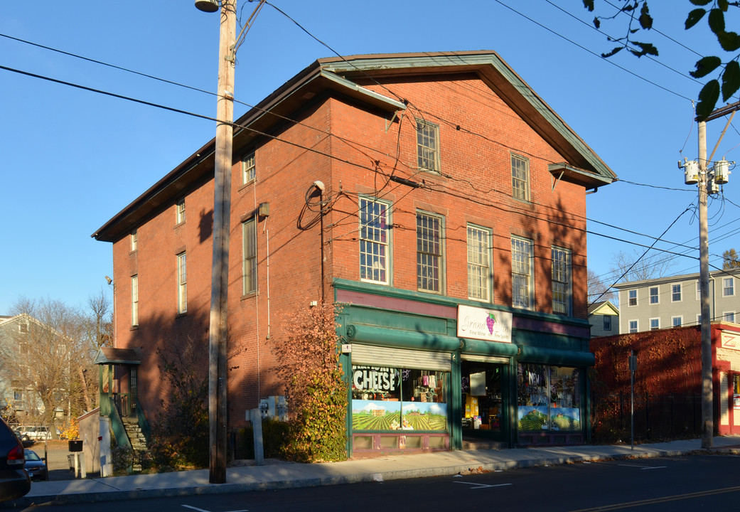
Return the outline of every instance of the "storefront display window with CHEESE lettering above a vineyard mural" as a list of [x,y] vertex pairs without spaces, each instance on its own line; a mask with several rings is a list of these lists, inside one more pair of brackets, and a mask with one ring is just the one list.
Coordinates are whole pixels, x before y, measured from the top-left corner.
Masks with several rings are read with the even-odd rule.
[[447,429],[445,371],[352,366],[352,429]]

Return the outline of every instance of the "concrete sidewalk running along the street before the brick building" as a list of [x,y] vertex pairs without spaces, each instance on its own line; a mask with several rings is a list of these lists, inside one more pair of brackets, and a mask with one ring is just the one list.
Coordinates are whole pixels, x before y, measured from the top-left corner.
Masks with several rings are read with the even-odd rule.
[[[662,457],[690,454],[702,449],[701,439],[635,445],[580,445],[506,450],[444,451],[429,454],[393,455],[323,464],[268,461],[263,466],[240,466],[226,470],[225,484],[210,484],[207,469],[163,474],[110,476],[108,478],[33,482],[27,496],[0,503],[0,508],[41,503],[62,504],[187,496],[266,489],[380,482],[391,479],[465,474],[557,465],[603,459]],[[740,454],[740,437],[715,437],[712,451]]]

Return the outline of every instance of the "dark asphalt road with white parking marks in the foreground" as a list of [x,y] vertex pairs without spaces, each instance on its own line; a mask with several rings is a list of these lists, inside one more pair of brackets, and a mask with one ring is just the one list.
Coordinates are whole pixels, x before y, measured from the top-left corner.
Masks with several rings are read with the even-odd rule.
[[[740,457],[693,455],[582,462],[465,476],[106,502],[106,512],[596,512],[737,510]],[[25,511],[99,512],[100,503]]]

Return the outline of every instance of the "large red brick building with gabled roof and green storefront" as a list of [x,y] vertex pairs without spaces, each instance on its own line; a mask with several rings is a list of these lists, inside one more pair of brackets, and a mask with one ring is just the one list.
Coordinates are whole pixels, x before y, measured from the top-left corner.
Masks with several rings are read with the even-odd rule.
[[[237,124],[230,427],[281,394],[283,317],[323,298],[347,305],[350,453],[585,438],[585,192],[616,176],[496,53],[320,59]],[[119,392],[149,417],[158,350],[207,360],[213,151],[93,235],[113,243],[116,346],[140,350]]]

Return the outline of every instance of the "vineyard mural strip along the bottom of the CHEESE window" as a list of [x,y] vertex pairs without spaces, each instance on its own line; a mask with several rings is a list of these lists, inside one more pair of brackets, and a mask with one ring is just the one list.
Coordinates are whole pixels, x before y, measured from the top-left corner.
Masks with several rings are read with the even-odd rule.
[[352,400],[353,430],[446,430],[447,404]]

